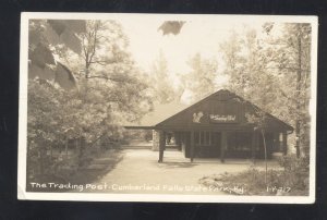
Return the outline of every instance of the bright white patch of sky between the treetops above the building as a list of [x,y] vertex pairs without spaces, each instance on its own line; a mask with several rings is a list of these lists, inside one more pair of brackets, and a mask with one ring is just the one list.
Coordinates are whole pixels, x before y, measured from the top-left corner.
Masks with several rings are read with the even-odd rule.
[[[168,69],[172,77],[178,73],[187,73],[186,61],[199,52],[203,58],[216,58],[221,65],[219,44],[230,35],[231,29],[242,30],[244,23],[229,21],[226,17],[219,21],[192,20],[186,21],[179,35],[162,35],[158,27],[165,20],[131,19],[120,20],[124,33],[130,38],[130,51],[138,65],[145,71],[158,58],[160,50],[164,52]],[[262,22],[252,23],[251,27],[259,28]],[[218,66],[221,71],[222,66]]]

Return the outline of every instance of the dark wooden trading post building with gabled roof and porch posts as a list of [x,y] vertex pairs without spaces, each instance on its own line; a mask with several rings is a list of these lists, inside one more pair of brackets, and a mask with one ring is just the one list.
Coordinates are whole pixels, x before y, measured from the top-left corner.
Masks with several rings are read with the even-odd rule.
[[[262,119],[263,126],[251,118]],[[158,123],[147,120],[147,124],[125,127],[154,131],[153,149],[158,149],[159,162],[164,161],[168,137],[173,137],[191,161],[219,158],[223,162],[227,158],[264,158],[264,143],[268,158],[274,152],[287,154],[288,135],[293,132],[289,124],[226,89],[160,119]]]

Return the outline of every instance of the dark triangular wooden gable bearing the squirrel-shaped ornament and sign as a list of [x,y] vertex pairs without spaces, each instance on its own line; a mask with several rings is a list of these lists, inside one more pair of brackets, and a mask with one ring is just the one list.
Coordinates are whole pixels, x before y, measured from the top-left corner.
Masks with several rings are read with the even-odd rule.
[[[157,127],[215,127],[250,125],[245,113],[255,114],[258,107],[229,90],[221,89],[179,113],[158,123]],[[293,130],[290,125],[267,114],[271,130]]]

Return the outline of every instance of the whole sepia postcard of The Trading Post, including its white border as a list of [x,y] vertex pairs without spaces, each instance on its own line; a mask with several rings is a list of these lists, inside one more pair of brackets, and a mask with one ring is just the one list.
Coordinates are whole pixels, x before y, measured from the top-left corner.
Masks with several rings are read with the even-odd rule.
[[21,16],[19,199],[315,201],[317,17]]

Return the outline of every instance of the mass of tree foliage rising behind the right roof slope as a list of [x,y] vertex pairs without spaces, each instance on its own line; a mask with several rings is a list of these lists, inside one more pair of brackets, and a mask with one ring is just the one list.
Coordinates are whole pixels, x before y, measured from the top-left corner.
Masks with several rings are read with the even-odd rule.
[[231,32],[220,49],[229,87],[295,127],[295,145],[308,154],[310,24],[266,23]]

